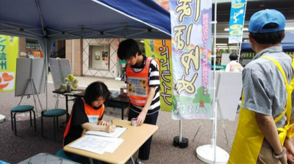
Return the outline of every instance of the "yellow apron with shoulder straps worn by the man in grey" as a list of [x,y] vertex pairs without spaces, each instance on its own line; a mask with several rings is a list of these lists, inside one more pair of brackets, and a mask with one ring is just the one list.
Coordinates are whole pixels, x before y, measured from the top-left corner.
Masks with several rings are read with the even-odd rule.
[[[294,88],[294,78],[291,80],[290,85],[288,85],[286,74],[283,71],[283,68],[281,67],[279,62],[274,60],[274,58],[268,56],[262,56],[262,58],[266,58],[274,62],[276,67],[278,67],[278,69],[281,71],[281,74],[283,75],[285,81],[285,86],[288,94],[286,107],[283,113],[274,119],[274,122],[276,123],[286,113],[286,125],[283,128],[278,128],[279,139],[281,145],[283,146],[283,142],[285,141],[286,137],[290,138],[294,135],[294,132],[292,130],[293,124],[290,124],[290,116],[292,110],[291,94]],[[292,67],[294,68],[294,60],[292,60]],[[243,100],[244,99],[242,95],[241,104],[243,104]],[[248,109],[241,108],[239,115],[239,124],[236,130],[236,135],[231,153],[229,155],[228,163],[256,163],[264,137],[265,136],[262,134],[260,128],[258,127],[258,123],[256,123],[255,113]]]

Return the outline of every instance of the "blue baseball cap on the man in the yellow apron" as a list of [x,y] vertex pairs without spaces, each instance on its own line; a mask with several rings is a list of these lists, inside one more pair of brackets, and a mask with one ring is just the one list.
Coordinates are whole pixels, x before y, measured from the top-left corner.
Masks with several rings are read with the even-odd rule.
[[[271,29],[262,29],[268,23],[276,23],[278,27]],[[286,18],[283,16],[282,13],[276,10],[267,9],[264,11],[258,11],[251,16],[248,31],[252,33],[278,32],[284,29],[285,26]]]

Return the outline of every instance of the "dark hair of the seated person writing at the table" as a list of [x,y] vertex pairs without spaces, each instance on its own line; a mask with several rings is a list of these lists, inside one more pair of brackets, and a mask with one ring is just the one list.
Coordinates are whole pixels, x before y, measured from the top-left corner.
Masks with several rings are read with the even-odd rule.
[[85,100],[86,104],[91,105],[91,102],[94,102],[100,96],[102,96],[104,100],[108,100],[110,96],[110,91],[108,90],[105,83],[95,81],[86,88],[83,100]]

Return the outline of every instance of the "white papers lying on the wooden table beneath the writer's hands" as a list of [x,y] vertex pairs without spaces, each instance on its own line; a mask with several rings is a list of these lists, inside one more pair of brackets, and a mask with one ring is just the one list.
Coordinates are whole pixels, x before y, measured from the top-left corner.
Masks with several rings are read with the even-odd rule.
[[69,147],[91,151],[93,153],[102,154],[104,152],[113,153],[123,142],[121,138],[99,137],[93,135],[85,135],[78,141],[70,144]]

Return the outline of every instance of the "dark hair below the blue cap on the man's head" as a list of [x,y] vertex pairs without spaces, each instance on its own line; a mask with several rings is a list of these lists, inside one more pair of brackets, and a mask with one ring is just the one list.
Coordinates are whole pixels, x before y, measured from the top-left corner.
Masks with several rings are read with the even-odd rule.
[[[272,25],[268,25],[269,27],[272,27]],[[268,32],[268,33],[252,33],[250,32],[253,39],[260,43],[260,44],[276,44],[281,43],[283,34],[285,33],[285,30],[282,29],[277,32]]]

